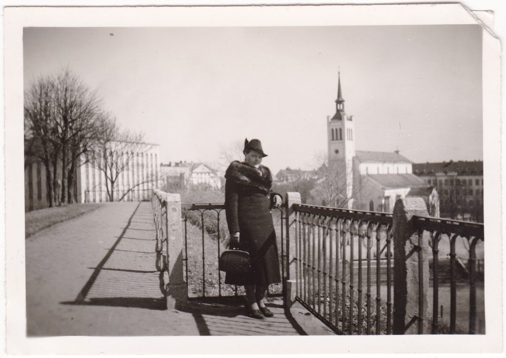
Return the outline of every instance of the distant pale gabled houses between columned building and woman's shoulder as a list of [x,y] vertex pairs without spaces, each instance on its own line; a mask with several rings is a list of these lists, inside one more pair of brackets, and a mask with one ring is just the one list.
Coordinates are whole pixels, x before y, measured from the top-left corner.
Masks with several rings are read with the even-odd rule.
[[208,185],[216,189],[222,186],[220,173],[205,163],[170,162],[160,165],[160,172],[167,186]]

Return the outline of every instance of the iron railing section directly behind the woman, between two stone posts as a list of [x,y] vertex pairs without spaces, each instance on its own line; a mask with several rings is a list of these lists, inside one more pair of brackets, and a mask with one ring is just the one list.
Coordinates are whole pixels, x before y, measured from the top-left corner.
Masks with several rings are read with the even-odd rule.
[[[218,269],[218,260],[230,238],[224,204],[182,204],[185,277],[189,299],[243,295],[242,287],[225,284],[225,274]],[[284,250],[283,207],[272,209],[278,244],[281,244],[281,272],[284,282],[286,255]],[[282,287],[273,285],[269,295],[281,295]]]

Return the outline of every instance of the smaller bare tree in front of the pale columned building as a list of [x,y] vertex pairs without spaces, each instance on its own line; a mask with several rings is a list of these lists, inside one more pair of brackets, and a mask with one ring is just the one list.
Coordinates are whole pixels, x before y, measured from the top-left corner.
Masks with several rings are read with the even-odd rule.
[[149,151],[153,145],[144,143],[144,134],[122,130],[116,122],[104,114],[101,120],[101,131],[93,150],[91,151],[92,165],[105,176],[105,187],[109,201],[122,200],[130,192],[146,183],[154,183],[158,178],[157,170],[146,171],[142,176],[137,171],[137,178],[133,178],[115,198],[115,191],[122,174],[130,174],[130,168],[139,167],[139,154]]

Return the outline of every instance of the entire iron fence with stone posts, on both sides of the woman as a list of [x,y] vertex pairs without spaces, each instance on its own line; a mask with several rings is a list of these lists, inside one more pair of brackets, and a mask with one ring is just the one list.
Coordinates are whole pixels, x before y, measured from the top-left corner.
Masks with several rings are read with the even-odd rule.
[[[181,205],[179,194],[159,190],[154,190],[152,204],[157,267],[167,271],[168,296],[186,302],[243,294],[225,285],[218,270],[228,238],[223,204]],[[447,239],[447,333],[483,333],[476,329],[477,308],[484,311],[477,300],[483,265],[476,255],[484,243],[483,224],[428,217],[424,201],[416,197],[398,200],[389,214],[303,205],[299,193],[288,193],[273,218],[283,279],[282,288],[273,293],[282,293],[287,307],[300,302],[338,334],[441,333],[440,248]],[[467,251],[457,248],[458,238],[468,243]],[[468,253],[467,262],[462,252]],[[458,305],[462,288],[457,285],[462,283],[469,288],[469,303]],[[467,308],[469,330],[459,332],[457,316]]]

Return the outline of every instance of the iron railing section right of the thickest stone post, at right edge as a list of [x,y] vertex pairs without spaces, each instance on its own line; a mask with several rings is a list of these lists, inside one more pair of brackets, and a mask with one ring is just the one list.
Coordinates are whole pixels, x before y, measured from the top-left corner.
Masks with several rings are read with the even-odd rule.
[[[432,247],[432,283],[433,283],[433,302],[432,302],[432,332],[438,331],[439,326],[439,275],[440,275],[440,242],[446,239],[449,244],[449,270],[450,270],[450,327],[449,333],[457,333],[456,317],[457,317],[457,283],[462,276],[466,278],[469,285],[469,334],[476,333],[477,323],[477,282],[479,274],[483,273],[480,261],[477,260],[477,245],[484,243],[484,225],[481,223],[448,220],[424,216],[413,216],[420,235],[422,231],[430,233],[430,246]],[[457,239],[461,238],[466,245],[460,246],[465,250],[459,250],[457,254]],[[461,261],[462,254],[468,253],[467,267]],[[460,258],[458,257],[460,256]],[[465,258],[464,258],[465,259]],[[458,275],[457,268],[461,268],[464,272]],[[480,280],[482,281],[482,280]],[[460,309],[462,311],[462,308]],[[479,333],[482,331],[482,322],[480,322]]]

